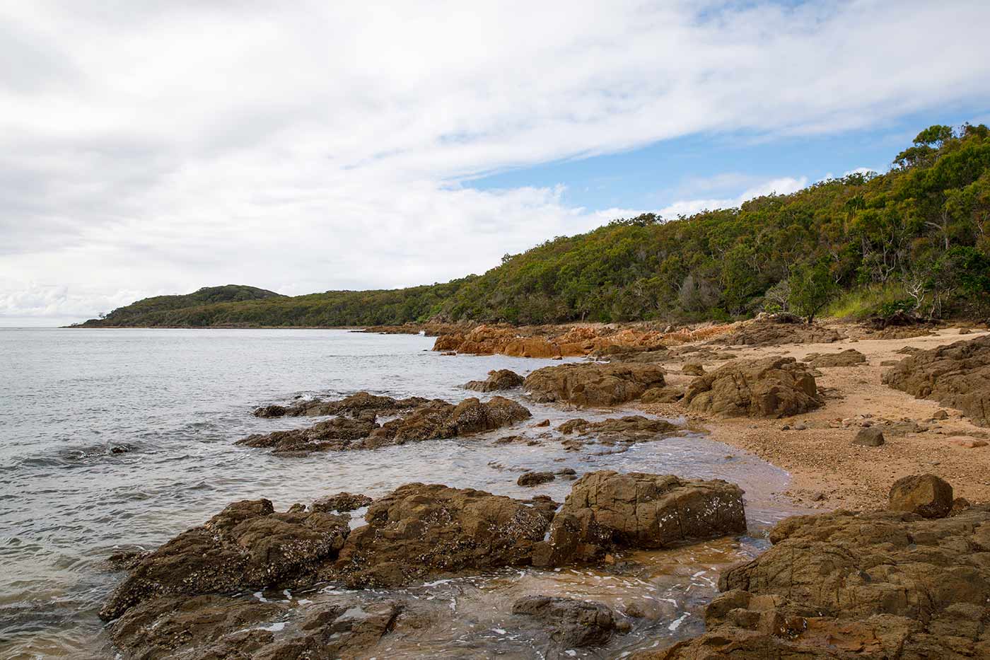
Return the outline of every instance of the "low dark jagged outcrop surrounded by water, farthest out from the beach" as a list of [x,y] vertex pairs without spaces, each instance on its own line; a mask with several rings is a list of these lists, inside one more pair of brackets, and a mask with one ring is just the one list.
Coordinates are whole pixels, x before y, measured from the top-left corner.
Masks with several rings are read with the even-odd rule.
[[286,455],[377,449],[491,431],[532,416],[526,406],[503,396],[484,402],[465,398],[456,405],[435,399],[384,424],[375,421],[373,410],[359,414],[358,418],[334,417],[309,428],[250,435],[237,444]]

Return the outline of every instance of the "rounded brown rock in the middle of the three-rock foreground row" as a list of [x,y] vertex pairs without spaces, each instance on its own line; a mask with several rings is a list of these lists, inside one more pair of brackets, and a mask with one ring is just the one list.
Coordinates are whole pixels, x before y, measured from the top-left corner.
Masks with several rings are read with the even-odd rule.
[[395,587],[435,575],[531,563],[556,503],[472,489],[407,484],[376,499],[327,580]]

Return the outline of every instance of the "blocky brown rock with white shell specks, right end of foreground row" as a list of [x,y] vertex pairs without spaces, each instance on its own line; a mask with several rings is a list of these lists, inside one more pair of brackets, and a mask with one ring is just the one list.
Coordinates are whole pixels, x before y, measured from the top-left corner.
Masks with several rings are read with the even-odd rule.
[[735,485],[592,472],[574,483],[533,561],[560,566],[614,549],[656,549],[744,531],[743,491]]

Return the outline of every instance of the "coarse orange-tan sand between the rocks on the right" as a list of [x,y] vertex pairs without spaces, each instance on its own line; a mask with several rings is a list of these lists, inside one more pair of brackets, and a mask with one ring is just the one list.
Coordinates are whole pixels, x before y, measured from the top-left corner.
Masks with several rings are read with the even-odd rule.
[[[990,501],[990,446],[965,448],[953,444],[961,438],[990,440],[990,429],[969,423],[958,411],[942,408],[938,402],[917,399],[911,394],[882,385],[880,375],[889,367],[882,361],[907,356],[896,351],[904,346],[931,349],[942,344],[970,340],[990,334],[973,331],[959,335],[958,327],[942,328],[936,336],[910,339],[869,339],[855,326],[835,325],[856,340],[831,344],[801,344],[773,347],[726,347],[740,359],[784,355],[801,360],[809,353],[838,353],[854,348],[867,362],[855,367],[820,369],[816,378],[826,395],[823,407],[783,419],[712,418],[686,414],[680,404],[642,406],[646,412],[680,414],[707,428],[713,440],[751,452],[791,475],[789,490],[781,495],[812,508],[878,508],[886,503],[891,484],[907,475],[931,473],[952,485],[955,496],[971,502]],[[724,361],[702,363],[706,370],[717,369]],[[681,375],[680,365],[665,365],[670,385],[686,385],[692,377]],[[948,418],[932,421],[945,410]],[[850,444],[861,425],[885,418],[911,420],[927,427],[923,432],[885,432],[880,447]],[[844,423],[843,423],[844,421]],[[805,430],[782,430],[798,424]]]

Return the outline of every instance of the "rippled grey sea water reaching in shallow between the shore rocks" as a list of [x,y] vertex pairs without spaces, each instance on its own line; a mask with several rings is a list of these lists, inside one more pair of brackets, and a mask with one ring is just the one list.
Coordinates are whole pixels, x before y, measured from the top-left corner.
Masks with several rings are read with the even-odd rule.
[[[339,330],[0,329],[0,575],[6,577],[0,583],[0,655],[109,657],[96,610],[121,575],[109,571],[107,556],[121,548],[152,548],[236,499],[264,496],[284,509],[339,491],[376,496],[420,481],[562,500],[570,482],[524,489],[516,479],[523,469],[572,467],[578,474],[613,469],[736,482],[746,491],[756,535],[788,512],[771,496],[783,489],[783,472],[698,434],[623,452],[595,444],[565,451],[553,440],[495,444],[497,436],[521,430],[537,435],[543,429],[529,427],[542,419],[556,426],[576,414],[606,416],[535,405],[519,390],[511,395],[534,419],[486,436],[305,458],[233,444],[249,433],[315,421],[251,416],[262,403],[361,389],[457,400],[475,395],[459,385],[483,379],[491,369],[525,375],[559,364],[445,357],[430,352],[432,345],[420,336]],[[406,590],[409,596],[402,598],[453,598],[460,609],[449,616],[446,634],[400,636],[396,643],[405,647],[382,651],[541,657],[546,650],[539,639],[526,640],[525,631],[506,627],[515,598],[559,593],[610,605],[659,599],[655,619],[617,638],[607,652],[596,652],[615,657],[648,645],[646,639],[696,632],[697,610],[714,593],[717,567],[751,556],[762,544],[743,539],[648,553],[621,575],[507,571]],[[489,624],[492,629],[484,630]],[[510,639],[513,634],[522,636]]]

